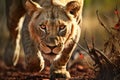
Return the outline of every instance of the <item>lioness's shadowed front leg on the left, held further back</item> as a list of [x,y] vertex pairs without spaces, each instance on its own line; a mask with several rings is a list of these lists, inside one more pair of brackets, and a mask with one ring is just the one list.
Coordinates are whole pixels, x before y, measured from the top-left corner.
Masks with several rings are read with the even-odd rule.
[[26,70],[30,72],[42,71],[44,69],[44,60],[41,52],[37,49],[32,40],[29,40],[29,38],[24,39],[23,48],[25,53]]

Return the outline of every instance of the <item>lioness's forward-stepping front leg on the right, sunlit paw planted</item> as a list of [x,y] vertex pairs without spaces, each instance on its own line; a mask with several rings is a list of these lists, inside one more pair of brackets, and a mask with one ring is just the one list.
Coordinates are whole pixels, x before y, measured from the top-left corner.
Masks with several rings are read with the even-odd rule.
[[68,48],[64,49],[62,55],[56,59],[50,68],[50,79],[55,78],[70,78],[70,73],[66,70],[66,65],[71,57],[71,54],[75,48],[74,44],[70,44]]

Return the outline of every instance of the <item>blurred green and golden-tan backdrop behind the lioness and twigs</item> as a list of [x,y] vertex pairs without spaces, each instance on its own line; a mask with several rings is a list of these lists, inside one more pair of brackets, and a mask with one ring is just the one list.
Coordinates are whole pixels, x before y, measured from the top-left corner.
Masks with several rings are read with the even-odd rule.
[[[91,37],[95,39],[95,46],[102,49],[104,41],[107,39],[105,29],[99,24],[96,10],[99,11],[102,21],[107,26],[114,26],[117,18],[114,10],[118,7],[120,14],[120,0],[85,0],[83,9],[83,26],[81,45],[84,46],[83,36],[86,32],[86,39],[91,42]],[[0,59],[2,59],[5,45],[9,36],[6,28],[5,0],[0,0]]]

